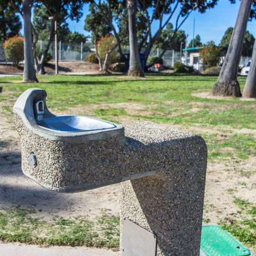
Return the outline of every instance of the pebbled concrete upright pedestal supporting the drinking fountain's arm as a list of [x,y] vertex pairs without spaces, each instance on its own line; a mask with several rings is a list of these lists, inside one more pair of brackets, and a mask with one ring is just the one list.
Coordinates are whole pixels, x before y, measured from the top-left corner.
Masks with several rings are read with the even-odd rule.
[[[157,256],[199,255],[207,159],[203,139],[152,124],[127,125],[125,131],[151,148],[157,172],[121,183],[121,230],[126,218],[156,234]],[[122,243],[121,231],[121,252]]]

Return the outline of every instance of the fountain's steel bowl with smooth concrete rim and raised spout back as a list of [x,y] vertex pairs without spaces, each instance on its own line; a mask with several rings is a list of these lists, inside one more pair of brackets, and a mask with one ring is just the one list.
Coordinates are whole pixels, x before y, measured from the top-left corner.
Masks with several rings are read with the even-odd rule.
[[45,90],[28,89],[13,106],[14,117],[21,119],[33,134],[72,143],[124,137],[122,125],[87,116],[52,114],[46,106],[46,96]]

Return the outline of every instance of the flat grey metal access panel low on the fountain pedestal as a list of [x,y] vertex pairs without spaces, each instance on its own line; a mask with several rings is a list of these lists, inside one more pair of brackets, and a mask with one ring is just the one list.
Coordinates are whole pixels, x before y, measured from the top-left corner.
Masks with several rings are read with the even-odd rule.
[[122,251],[122,256],[156,256],[156,235],[124,219]]

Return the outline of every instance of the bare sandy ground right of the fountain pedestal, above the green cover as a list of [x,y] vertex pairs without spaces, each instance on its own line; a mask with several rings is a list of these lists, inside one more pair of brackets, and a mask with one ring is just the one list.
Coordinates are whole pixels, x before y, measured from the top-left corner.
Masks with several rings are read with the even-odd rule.
[[[254,172],[252,170],[254,169]],[[233,203],[241,197],[256,204],[256,158],[250,157],[238,164],[209,163],[205,185],[204,218],[218,223],[223,217],[233,217],[239,210]],[[242,172],[252,172],[248,177]],[[246,183],[246,186],[243,184]],[[233,189],[230,193],[229,189]]]

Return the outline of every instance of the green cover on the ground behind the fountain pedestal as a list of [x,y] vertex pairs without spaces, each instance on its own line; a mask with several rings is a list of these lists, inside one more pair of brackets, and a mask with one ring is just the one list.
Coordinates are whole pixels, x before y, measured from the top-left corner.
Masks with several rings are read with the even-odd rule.
[[251,252],[227,231],[216,225],[202,227],[202,256],[250,256]]

